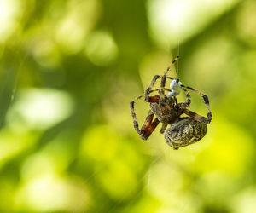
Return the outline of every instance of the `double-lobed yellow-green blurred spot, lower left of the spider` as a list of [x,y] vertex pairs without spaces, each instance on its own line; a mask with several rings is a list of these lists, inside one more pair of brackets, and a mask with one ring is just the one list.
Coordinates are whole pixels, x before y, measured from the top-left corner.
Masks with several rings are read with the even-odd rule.
[[[81,147],[81,164],[92,165],[92,176],[112,199],[131,199],[137,192],[137,175],[143,170],[143,161],[131,145],[107,126],[97,126],[85,132]],[[124,152],[125,151],[125,152]]]

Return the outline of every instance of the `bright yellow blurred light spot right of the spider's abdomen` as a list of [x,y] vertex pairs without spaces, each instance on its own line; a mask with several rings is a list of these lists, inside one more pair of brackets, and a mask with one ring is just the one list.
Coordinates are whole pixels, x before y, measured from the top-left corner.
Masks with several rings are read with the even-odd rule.
[[[216,127],[218,124],[218,128]],[[203,173],[221,171],[240,177],[253,157],[253,140],[242,130],[225,120],[212,122],[208,131],[209,147],[196,158],[196,169]]]

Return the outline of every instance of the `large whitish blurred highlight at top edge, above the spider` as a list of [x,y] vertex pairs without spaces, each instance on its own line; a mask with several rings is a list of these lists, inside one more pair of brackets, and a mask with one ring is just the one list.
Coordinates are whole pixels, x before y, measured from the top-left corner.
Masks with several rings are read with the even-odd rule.
[[179,39],[181,42],[187,40],[237,2],[238,0],[148,0],[152,37],[162,47],[177,45]]

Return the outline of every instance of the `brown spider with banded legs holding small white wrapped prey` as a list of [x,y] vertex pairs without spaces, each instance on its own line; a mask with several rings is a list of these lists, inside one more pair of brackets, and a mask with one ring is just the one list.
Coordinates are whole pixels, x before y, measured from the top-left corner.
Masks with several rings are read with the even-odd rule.
[[[177,61],[177,56],[171,66]],[[200,91],[191,87],[183,85],[178,78],[172,78],[167,76],[167,72],[171,66],[168,66],[164,75],[155,75],[152,79],[148,89],[145,90],[143,95],[138,96],[136,99],[130,102],[131,116],[133,118],[134,129],[137,131],[143,140],[147,140],[152,134],[156,126],[162,123],[160,133],[164,134],[166,143],[173,149],[179,147],[185,147],[196,141],[200,141],[207,133],[207,124],[211,123],[212,112],[209,106],[209,100],[207,95],[204,95]],[[160,88],[152,89],[154,83],[160,78]],[[171,79],[171,89],[166,89],[166,78]],[[195,112],[187,109],[190,106],[191,97],[189,95],[190,89],[201,95],[207,106],[207,118],[203,117]],[[176,96],[179,95],[181,90],[186,94],[186,101],[177,103]],[[157,91],[159,95],[149,96],[154,91]],[[166,95],[166,91],[168,91]],[[145,119],[143,126],[139,129],[137,116],[134,110],[134,103],[145,96],[145,101],[149,102],[148,116]],[[186,114],[189,117],[180,116]],[[156,118],[154,118],[154,116]],[[154,120],[153,120],[154,118]],[[171,125],[168,129],[167,126]]]

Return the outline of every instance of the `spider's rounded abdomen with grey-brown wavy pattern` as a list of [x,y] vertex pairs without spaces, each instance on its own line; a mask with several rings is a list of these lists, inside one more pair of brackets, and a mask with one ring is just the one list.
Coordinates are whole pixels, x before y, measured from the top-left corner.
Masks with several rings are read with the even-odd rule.
[[165,131],[166,143],[178,149],[200,141],[207,134],[207,124],[193,118],[179,118]]

